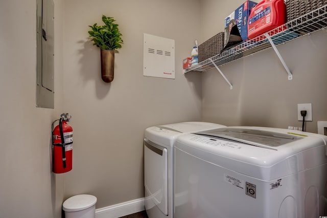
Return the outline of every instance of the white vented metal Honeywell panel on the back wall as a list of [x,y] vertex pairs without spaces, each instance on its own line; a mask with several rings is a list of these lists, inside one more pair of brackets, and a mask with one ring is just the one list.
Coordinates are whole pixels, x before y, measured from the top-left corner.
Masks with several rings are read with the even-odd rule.
[[175,40],[143,34],[143,76],[175,79]]

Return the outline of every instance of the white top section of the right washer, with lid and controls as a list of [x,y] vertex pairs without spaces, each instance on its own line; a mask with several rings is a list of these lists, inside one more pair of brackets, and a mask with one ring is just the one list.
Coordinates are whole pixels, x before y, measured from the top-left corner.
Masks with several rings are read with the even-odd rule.
[[178,137],[175,147],[204,161],[270,181],[327,163],[327,136],[267,127],[224,127]]

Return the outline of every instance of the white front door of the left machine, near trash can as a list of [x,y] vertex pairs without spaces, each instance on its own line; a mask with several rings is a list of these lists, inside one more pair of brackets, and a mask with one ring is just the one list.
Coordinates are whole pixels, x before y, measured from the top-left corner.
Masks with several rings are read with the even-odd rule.
[[150,141],[144,141],[144,188],[146,209],[168,215],[168,151]]

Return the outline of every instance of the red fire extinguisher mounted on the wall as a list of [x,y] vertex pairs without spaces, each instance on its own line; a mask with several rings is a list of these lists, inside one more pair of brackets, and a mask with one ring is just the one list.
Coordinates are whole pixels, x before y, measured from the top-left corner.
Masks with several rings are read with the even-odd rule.
[[[63,173],[73,168],[73,128],[67,124],[72,116],[62,114],[52,123],[53,168],[54,173]],[[59,124],[54,127],[56,121]]]

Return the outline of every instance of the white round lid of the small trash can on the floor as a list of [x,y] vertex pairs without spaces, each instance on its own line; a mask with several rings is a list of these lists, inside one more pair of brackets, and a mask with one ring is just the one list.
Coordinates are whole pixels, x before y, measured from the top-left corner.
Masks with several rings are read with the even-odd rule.
[[78,194],[67,199],[62,204],[62,209],[67,212],[80,211],[94,206],[97,203],[97,197],[89,194]]

